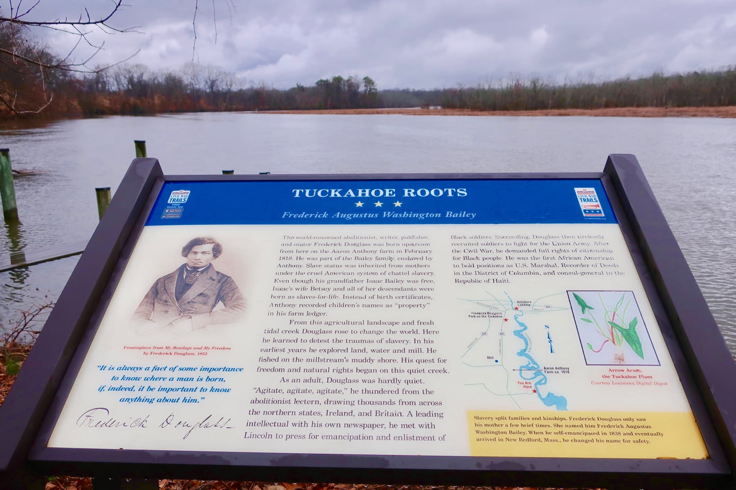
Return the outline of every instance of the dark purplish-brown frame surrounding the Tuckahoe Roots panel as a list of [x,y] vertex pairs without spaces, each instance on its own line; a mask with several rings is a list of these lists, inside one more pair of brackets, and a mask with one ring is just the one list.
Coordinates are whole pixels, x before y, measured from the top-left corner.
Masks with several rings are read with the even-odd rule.
[[[361,179],[600,179],[651,298],[710,458],[588,459],[471,456],[195,453],[46,447],[49,419],[68,393],[158,191],[176,181]],[[659,301],[657,301],[659,298]],[[452,485],[726,488],[736,485],[736,364],[633,155],[602,173],[164,176],[135,159],[0,408],[0,474],[113,478],[361,481]],[[61,400],[63,401],[63,400]]]

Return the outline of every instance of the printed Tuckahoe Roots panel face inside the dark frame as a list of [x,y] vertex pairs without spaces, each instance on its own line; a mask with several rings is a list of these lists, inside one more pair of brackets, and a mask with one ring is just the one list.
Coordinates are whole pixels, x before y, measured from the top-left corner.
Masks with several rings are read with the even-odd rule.
[[48,447],[709,456],[600,179],[167,182]]

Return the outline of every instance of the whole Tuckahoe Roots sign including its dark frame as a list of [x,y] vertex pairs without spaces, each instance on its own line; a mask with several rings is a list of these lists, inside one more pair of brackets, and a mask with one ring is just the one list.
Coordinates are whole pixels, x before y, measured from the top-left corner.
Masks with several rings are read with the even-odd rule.
[[734,377],[634,156],[391,176],[136,159],[0,406],[0,482],[730,488]]

